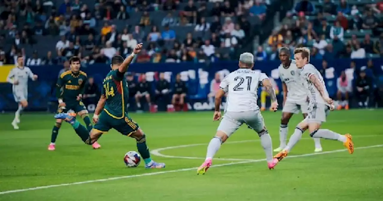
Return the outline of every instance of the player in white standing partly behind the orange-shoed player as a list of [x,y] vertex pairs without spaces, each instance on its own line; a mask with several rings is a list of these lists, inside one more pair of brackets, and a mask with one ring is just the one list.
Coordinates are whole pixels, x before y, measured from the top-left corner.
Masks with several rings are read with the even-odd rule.
[[[290,50],[283,47],[279,51],[279,59],[282,64],[278,67],[279,77],[282,80],[283,88],[283,110],[281,125],[279,129],[280,145],[275,152],[280,152],[286,146],[288,134],[288,122],[293,114],[299,111],[303,114],[303,119],[308,113],[308,90],[303,86],[303,79],[300,77],[301,69],[296,67],[295,60],[290,59]],[[314,152],[321,152],[322,146],[319,138],[313,138],[315,144]]]

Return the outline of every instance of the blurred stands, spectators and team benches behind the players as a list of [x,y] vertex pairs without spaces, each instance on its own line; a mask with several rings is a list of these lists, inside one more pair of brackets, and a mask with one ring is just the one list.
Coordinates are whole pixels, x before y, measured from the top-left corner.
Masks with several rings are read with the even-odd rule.
[[[282,101],[278,48],[309,47],[337,109],[383,106],[383,2],[375,0],[3,0],[0,2],[0,111],[14,111],[6,82],[17,56],[38,81],[29,111],[57,109],[67,60],[79,56],[93,111],[110,58],[144,50],[126,74],[130,111],[211,110],[241,53],[273,78]],[[267,94],[259,89],[266,109]]]

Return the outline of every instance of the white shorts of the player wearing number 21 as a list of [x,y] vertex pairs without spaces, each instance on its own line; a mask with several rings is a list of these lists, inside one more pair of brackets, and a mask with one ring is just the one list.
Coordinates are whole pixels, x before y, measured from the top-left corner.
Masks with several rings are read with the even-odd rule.
[[230,112],[227,111],[221,122],[219,123],[218,129],[221,130],[228,137],[233,134],[242,124],[246,124],[250,129],[260,133],[265,129],[264,119],[259,110],[255,111],[244,111],[244,112]]

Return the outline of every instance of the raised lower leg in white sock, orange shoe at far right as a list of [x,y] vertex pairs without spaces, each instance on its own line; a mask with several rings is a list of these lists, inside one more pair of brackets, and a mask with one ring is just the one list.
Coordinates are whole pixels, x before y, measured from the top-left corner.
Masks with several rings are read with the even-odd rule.
[[352,142],[352,136],[350,134],[340,135],[328,129],[316,129],[310,133],[313,138],[325,138],[329,140],[338,140],[349,150],[349,153],[354,153],[354,143]]

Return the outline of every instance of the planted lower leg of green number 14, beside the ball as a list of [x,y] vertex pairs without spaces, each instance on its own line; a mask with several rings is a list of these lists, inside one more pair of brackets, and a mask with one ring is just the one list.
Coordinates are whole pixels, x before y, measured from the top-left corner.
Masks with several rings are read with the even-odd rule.
[[142,159],[145,162],[145,168],[164,168],[165,163],[155,162],[150,158],[149,148],[146,145],[146,136],[141,129],[138,129],[136,132],[132,133],[130,137],[133,137],[137,140],[137,150],[141,154]]

